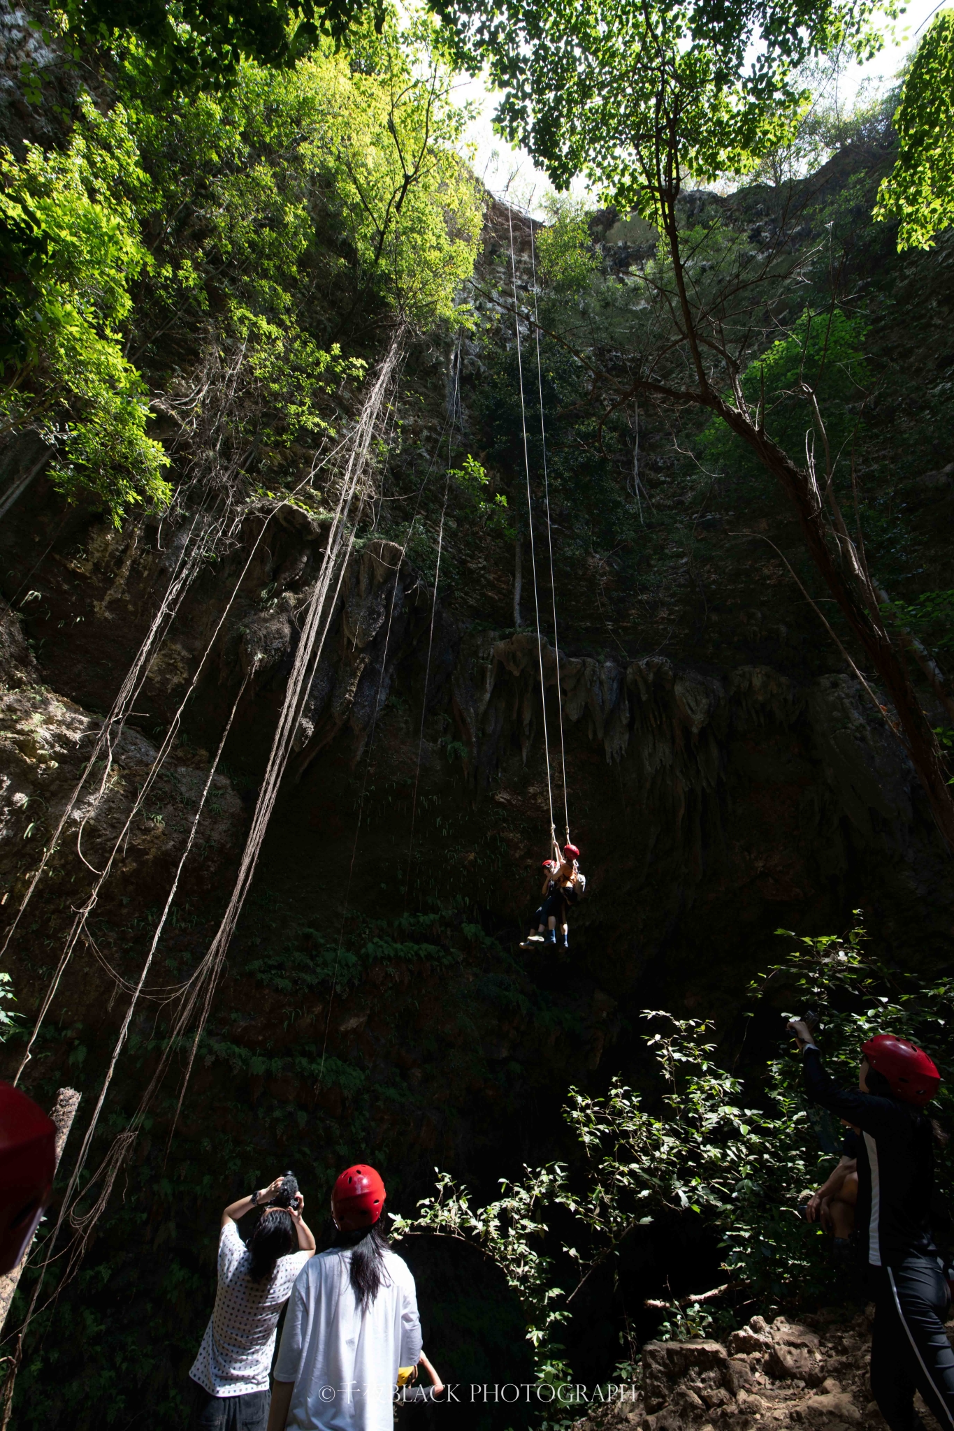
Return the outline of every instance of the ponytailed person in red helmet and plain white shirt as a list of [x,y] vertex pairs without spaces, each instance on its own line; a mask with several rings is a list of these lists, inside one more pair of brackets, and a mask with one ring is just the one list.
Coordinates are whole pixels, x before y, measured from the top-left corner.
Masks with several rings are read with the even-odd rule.
[[335,1246],[289,1298],[267,1431],[393,1431],[398,1371],[421,1359],[410,1271],[380,1234],[380,1175],[348,1168],[332,1192]]

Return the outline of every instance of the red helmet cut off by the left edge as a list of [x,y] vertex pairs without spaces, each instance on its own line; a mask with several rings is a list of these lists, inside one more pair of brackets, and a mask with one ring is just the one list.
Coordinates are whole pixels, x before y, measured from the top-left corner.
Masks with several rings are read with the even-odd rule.
[[56,1172],[56,1125],[11,1083],[0,1083],[0,1272],[36,1232]]

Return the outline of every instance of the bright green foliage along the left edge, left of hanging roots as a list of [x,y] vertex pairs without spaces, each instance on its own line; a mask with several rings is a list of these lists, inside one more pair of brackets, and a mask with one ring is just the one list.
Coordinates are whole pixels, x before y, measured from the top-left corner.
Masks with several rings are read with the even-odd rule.
[[64,150],[0,155],[0,223],[11,269],[0,434],[39,432],[69,497],[96,491],[119,522],[160,505],[169,459],[146,434],[147,394],[123,352],[130,285],[149,266],[139,232],[146,176],[127,114],[84,100]]

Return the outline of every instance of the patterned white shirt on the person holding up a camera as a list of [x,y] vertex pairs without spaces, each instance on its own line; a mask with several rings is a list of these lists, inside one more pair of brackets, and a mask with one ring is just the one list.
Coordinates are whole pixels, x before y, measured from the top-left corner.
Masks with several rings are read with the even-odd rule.
[[219,1236],[216,1305],[189,1372],[212,1397],[269,1390],[279,1312],[308,1259],[308,1252],[280,1256],[267,1282],[253,1282],[252,1254],[229,1218]]

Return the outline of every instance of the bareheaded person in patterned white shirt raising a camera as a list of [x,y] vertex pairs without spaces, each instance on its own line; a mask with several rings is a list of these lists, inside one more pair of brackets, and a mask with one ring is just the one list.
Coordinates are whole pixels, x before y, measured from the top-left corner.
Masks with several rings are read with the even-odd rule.
[[[289,1186],[290,1185],[290,1186]],[[267,1206],[279,1198],[287,1206]],[[236,1219],[265,1205],[249,1244]],[[230,1203],[222,1213],[219,1286],[206,1335],[189,1375],[199,1384],[200,1431],[265,1431],[275,1328],[295,1278],[315,1255],[293,1178]]]

